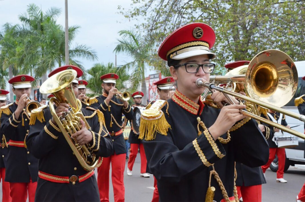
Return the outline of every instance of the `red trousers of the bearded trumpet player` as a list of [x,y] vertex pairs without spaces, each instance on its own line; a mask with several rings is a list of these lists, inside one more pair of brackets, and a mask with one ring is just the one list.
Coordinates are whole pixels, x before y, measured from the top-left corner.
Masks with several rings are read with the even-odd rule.
[[126,154],[114,154],[103,158],[102,165],[97,169],[97,184],[101,201],[109,201],[109,170],[111,162],[111,179],[113,185],[114,201],[125,200],[124,170]]

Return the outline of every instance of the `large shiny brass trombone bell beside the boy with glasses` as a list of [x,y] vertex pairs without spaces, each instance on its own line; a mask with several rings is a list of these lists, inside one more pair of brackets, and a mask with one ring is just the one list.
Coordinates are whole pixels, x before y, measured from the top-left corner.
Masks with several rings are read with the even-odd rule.
[[282,107],[294,96],[298,73],[292,59],[279,50],[257,54],[246,70],[245,86],[250,97]]

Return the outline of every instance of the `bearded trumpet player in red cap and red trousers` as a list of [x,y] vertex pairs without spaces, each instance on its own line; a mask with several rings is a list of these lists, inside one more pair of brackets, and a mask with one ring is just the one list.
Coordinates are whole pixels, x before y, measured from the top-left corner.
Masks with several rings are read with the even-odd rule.
[[[125,200],[124,169],[126,161],[126,144],[123,136],[123,128],[126,123],[122,123],[122,113],[126,121],[133,118],[133,111],[127,99],[120,94],[116,88],[119,76],[109,73],[100,77],[102,80],[103,94],[97,97],[99,109],[105,117],[106,127],[113,141],[113,153],[110,157],[104,158],[102,165],[98,168],[98,185],[101,201],[109,201],[109,169],[110,162],[112,168],[112,183],[114,201]],[[129,96],[128,96],[129,97]]]

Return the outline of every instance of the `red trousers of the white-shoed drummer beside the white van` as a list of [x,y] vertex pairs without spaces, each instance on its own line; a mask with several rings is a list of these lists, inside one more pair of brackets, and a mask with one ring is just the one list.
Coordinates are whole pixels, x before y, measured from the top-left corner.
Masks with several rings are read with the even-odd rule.
[[262,170],[265,173],[267,168],[275,158],[275,154],[278,156],[278,171],[276,172],[276,178],[283,178],[285,168],[285,148],[269,148],[269,160],[266,165],[262,166]]

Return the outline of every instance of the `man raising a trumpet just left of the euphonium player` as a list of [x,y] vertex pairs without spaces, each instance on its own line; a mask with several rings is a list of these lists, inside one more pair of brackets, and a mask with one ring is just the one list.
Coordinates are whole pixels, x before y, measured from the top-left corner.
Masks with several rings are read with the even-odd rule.
[[32,76],[11,78],[16,101],[1,108],[1,133],[9,142],[5,164],[5,181],[9,182],[12,201],[34,201],[38,177],[38,159],[29,151],[25,139],[30,129],[30,117],[25,108],[31,93]]

